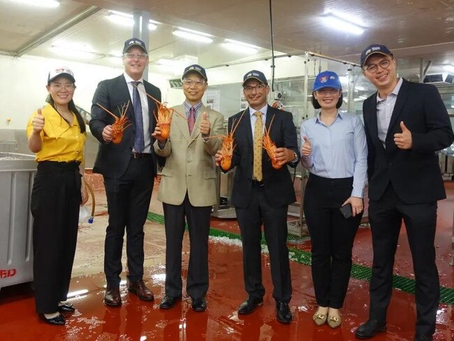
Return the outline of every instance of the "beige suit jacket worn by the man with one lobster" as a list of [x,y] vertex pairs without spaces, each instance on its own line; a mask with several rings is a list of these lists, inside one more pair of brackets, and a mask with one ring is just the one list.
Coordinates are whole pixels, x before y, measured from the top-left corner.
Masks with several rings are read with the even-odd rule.
[[[174,109],[186,116],[184,105]],[[191,136],[186,119],[173,113],[166,145],[161,149],[157,140],[154,143],[156,154],[166,157],[158,193],[158,200],[163,203],[181,205],[186,191],[193,206],[211,206],[217,202],[213,156],[221,147],[221,138],[203,139],[199,127],[205,111],[210,119],[210,136],[224,135],[224,116],[202,105]]]

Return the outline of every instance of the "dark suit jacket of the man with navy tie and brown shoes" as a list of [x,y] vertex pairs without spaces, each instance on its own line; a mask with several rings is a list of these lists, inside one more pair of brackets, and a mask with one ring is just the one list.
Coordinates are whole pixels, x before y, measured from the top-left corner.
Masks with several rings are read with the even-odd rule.
[[[159,88],[144,80],[145,91],[147,94],[152,95],[158,101],[161,101],[161,91]],[[142,94],[140,94],[142,96]],[[149,110],[149,127],[148,131],[151,136],[156,126],[156,119],[153,113],[157,115],[156,103],[147,96],[148,110]],[[105,126],[115,122],[114,117],[101,109],[97,103],[101,104],[104,108],[108,109],[115,115],[120,115],[122,105],[128,103],[129,107],[126,117],[132,124],[124,131],[122,142],[118,145],[114,143],[106,143],[103,139],[102,133]],[[94,173],[101,173],[106,177],[121,177],[131,161],[131,152],[134,145],[134,137],[136,135],[136,120],[134,118],[134,109],[132,106],[132,99],[129,95],[128,85],[124,75],[119,75],[110,80],[103,80],[99,82],[96,92],[93,96],[91,105],[91,120],[89,123],[91,133],[99,140],[98,154],[94,163]],[[153,150],[154,138],[152,138],[152,157],[154,164],[154,175],[156,175],[156,155]]]

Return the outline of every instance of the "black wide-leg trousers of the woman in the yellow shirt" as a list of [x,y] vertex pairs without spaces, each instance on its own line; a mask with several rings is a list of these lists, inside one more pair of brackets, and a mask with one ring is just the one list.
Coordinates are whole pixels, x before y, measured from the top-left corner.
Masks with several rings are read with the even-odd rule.
[[66,300],[78,235],[78,162],[42,161],[31,191],[36,312],[57,312]]

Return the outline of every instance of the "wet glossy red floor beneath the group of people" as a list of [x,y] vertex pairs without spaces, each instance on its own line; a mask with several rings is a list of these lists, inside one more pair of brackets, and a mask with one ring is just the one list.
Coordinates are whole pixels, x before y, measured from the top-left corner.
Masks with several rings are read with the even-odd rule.
[[[437,233],[437,264],[441,284],[454,287],[454,268],[448,266],[451,259],[451,233],[453,224],[454,186],[446,184],[448,199],[439,203],[439,226]],[[152,206],[155,205],[154,191]],[[102,196],[99,190],[97,196]],[[100,215],[103,213],[100,213]],[[212,220],[212,226],[237,233],[235,220]],[[102,226],[104,228],[105,226]],[[162,252],[163,226],[154,224],[146,229],[145,252]],[[184,268],[188,262],[189,242],[184,239]],[[80,248],[93,245],[78,245]],[[310,249],[309,242],[298,245]],[[102,241],[98,249],[103,253]],[[358,232],[354,261],[366,266],[372,263],[370,233],[367,228]],[[77,256],[77,255],[76,255]],[[161,255],[161,259],[162,259]],[[77,260],[76,260],[77,261]],[[163,298],[164,266],[152,263],[145,268],[145,281],[155,293],[154,303],[144,303],[127,293],[122,286],[123,305],[119,308],[103,305],[104,277],[102,273],[73,277],[71,291],[87,290],[87,293],[72,302],[77,307],[69,315],[66,326],[49,326],[39,320],[34,312],[34,297],[29,284],[4,287],[0,291],[0,340],[244,340],[285,341],[356,340],[353,332],[367,319],[368,284],[351,280],[342,308],[342,326],[335,330],[328,325],[318,327],[312,321],[316,307],[312,277],[309,266],[291,262],[293,298],[291,310],[293,323],[283,325],[276,321],[268,256],[263,255],[263,282],[267,292],[265,302],[256,312],[238,316],[237,307],[246,298],[242,283],[242,253],[235,243],[210,240],[210,290],[207,294],[208,308],[198,313],[191,310],[191,301],[184,296],[171,310],[159,310]],[[396,272],[412,277],[411,258],[404,228],[396,255]],[[183,273],[184,278],[186,273]],[[126,276],[123,275],[123,278]],[[416,307],[414,297],[402,291],[394,291],[388,310],[388,331],[372,340],[413,340]],[[437,317],[437,333],[434,340],[454,341],[453,305],[440,305]]]

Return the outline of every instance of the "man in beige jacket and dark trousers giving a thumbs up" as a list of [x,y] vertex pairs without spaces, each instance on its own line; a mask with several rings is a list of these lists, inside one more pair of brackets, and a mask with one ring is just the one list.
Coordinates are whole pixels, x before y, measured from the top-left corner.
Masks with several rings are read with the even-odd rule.
[[207,308],[208,235],[212,205],[216,203],[216,170],[212,157],[219,150],[224,134],[224,117],[207,108],[201,99],[207,89],[207,74],[199,65],[184,69],[183,92],[186,100],[174,109],[170,135],[161,137],[156,125],[154,151],[166,158],[158,200],[163,202],[166,226],[166,296],[161,309],[170,309],[182,298],[182,240],[184,218],[189,226],[191,254],[186,293],[192,308]]

